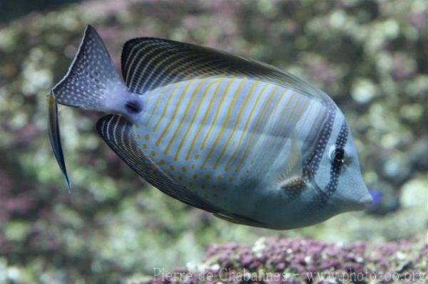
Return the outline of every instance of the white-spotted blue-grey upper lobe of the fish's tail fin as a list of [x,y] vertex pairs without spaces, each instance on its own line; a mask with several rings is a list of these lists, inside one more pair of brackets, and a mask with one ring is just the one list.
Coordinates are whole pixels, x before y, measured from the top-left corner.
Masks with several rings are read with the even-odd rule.
[[61,105],[114,112],[116,98],[126,92],[106,46],[95,28],[87,26],[67,74],[52,89],[56,101]]

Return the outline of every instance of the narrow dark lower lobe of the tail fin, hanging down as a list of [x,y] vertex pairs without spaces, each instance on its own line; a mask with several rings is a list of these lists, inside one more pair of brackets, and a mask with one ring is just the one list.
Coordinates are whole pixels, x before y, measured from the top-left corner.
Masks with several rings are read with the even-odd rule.
[[56,157],[56,162],[58,162],[58,166],[61,169],[64,179],[66,179],[66,184],[68,187],[68,192],[71,190],[71,182],[68,178],[66,162],[64,160],[63,150],[61,146],[61,135],[59,132],[58,125],[58,105],[56,103],[54,93],[49,93],[48,95],[48,112],[49,112],[49,122],[48,122],[48,130],[49,130],[49,139],[51,140],[51,146],[54,150],[54,155]]

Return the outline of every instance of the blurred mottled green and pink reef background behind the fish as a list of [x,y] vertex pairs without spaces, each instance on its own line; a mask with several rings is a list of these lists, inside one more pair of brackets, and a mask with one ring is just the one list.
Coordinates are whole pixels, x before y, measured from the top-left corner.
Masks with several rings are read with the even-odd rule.
[[[263,236],[427,238],[427,15],[425,0],[1,0],[0,283],[144,278],[198,263],[210,244]],[[255,58],[325,90],[350,123],[373,206],[292,231],[228,223],[146,184],[96,134],[100,114],[60,107],[68,194],[46,95],[88,23],[118,68],[126,40],[156,36]]]

